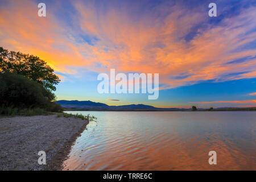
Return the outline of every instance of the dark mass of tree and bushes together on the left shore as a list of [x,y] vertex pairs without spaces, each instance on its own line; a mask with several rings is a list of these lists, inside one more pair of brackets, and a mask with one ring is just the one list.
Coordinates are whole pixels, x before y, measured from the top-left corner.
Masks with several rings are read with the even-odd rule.
[[0,47],[0,107],[62,111],[52,102],[56,98],[52,91],[59,82],[53,69],[39,57]]

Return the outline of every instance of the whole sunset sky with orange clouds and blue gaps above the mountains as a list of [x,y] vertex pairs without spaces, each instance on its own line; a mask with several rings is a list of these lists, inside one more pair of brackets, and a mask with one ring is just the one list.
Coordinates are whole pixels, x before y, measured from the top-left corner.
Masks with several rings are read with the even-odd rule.
[[[38,16],[38,3],[46,17]],[[210,17],[209,3],[217,16]],[[0,43],[47,62],[57,100],[256,106],[255,1],[0,0]],[[100,94],[100,73],[159,73],[159,97]]]

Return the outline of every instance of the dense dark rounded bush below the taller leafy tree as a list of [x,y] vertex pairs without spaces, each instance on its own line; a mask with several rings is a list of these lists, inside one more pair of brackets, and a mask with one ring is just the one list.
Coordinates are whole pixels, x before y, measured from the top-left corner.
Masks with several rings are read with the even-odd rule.
[[[5,114],[13,115],[17,109],[44,109],[63,111],[55,102],[55,95],[42,84],[16,73],[0,73],[0,105],[6,107]],[[39,110],[38,110],[39,111]],[[30,110],[26,113],[30,115]]]

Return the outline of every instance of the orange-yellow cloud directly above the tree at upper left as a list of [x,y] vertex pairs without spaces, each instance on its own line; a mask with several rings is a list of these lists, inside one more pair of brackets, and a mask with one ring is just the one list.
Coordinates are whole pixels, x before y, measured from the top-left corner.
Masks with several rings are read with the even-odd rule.
[[9,3],[8,9],[0,7],[0,40],[4,48],[37,55],[60,72],[75,73],[68,66],[88,65],[57,19],[51,15],[39,17],[37,4],[32,1]]

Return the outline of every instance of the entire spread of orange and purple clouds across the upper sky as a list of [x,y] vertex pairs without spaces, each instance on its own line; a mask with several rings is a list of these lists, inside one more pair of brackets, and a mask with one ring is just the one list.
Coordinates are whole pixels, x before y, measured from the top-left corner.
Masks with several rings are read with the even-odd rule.
[[54,13],[56,5],[46,18],[28,0],[0,7],[2,46],[38,55],[62,73],[79,74],[76,67],[159,73],[160,89],[256,77],[256,49],[241,49],[256,41],[253,6],[209,23],[203,7],[181,3],[162,2],[154,10],[142,2],[72,3],[75,13],[63,12],[69,22]]

